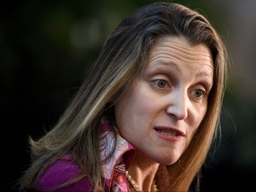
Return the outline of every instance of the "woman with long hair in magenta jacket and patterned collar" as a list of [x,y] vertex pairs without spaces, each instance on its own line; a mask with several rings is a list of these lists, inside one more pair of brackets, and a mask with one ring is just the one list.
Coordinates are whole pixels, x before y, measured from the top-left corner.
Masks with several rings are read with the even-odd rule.
[[124,19],[52,131],[30,139],[23,191],[188,191],[220,121],[225,46],[198,12]]

